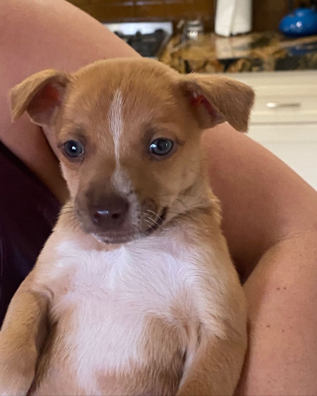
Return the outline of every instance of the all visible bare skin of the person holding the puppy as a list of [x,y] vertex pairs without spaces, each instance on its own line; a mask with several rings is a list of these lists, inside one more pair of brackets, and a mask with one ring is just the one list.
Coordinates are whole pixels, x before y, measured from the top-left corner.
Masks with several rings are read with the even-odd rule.
[[[138,56],[63,0],[2,0],[0,139],[63,202],[53,137],[26,115],[11,123],[8,90],[43,69],[74,71],[108,57]],[[312,395],[317,389],[317,192],[229,124],[206,131],[210,183],[244,281],[249,350],[237,394]]]

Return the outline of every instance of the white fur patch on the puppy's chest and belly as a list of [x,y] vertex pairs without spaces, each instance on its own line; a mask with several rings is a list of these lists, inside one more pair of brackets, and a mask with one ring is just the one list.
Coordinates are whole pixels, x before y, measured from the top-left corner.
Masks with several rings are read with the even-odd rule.
[[71,331],[63,343],[82,385],[96,371],[126,372],[131,362],[142,364],[147,320],[172,322],[173,308],[186,309],[197,274],[197,252],[164,237],[112,251],[62,242],[56,252],[57,273],[69,277],[69,286],[54,298],[51,314],[59,321],[67,315]]

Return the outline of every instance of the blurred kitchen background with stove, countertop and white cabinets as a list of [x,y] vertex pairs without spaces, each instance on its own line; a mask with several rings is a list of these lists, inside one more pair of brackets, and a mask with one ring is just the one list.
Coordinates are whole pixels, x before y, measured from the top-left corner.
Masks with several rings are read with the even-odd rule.
[[317,0],[69,0],[141,55],[254,88],[249,136],[317,189]]

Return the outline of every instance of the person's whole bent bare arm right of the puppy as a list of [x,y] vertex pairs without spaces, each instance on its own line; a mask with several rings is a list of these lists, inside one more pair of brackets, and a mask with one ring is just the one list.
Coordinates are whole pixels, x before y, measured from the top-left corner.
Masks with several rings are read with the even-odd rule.
[[247,278],[249,351],[237,394],[315,394],[317,192],[227,124],[206,131],[204,147],[223,230]]

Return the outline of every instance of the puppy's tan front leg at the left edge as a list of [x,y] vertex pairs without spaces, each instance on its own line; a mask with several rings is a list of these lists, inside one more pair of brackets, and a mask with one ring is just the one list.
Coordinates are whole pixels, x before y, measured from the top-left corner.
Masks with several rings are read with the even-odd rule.
[[48,297],[32,272],[13,296],[0,331],[0,395],[26,395],[47,335]]

